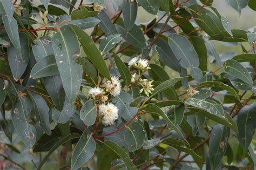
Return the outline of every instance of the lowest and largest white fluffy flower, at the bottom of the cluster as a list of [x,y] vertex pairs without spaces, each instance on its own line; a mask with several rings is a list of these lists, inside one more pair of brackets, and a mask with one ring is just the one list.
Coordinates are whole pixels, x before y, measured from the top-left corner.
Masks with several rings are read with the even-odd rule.
[[102,115],[102,123],[104,125],[112,125],[118,118],[118,108],[112,103],[101,104],[99,105],[99,114]]

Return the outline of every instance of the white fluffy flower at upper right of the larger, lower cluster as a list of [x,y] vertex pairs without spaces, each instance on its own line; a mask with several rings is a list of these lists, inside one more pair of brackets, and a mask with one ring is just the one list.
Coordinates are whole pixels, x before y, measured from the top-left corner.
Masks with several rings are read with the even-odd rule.
[[118,77],[115,77],[115,76],[111,77],[111,81],[110,80],[106,81],[105,88],[106,88],[106,91],[109,91],[113,97],[119,96],[122,90],[120,81]]

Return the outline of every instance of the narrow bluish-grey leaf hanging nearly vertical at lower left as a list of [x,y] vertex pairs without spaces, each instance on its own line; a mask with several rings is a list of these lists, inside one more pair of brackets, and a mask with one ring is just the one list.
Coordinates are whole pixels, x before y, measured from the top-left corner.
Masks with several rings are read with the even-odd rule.
[[36,118],[39,125],[46,134],[51,135],[49,111],[46,101],[42,96],[36,93],[29,94],[34,103],[34,112],[36,113]]

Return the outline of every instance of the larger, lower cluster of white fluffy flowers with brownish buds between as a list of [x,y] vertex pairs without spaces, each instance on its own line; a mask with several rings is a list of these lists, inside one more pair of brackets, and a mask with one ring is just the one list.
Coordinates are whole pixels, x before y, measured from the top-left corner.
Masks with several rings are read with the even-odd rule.
[[107,80],[104,84],[104,89],[100,87],[94,87],[89,90],[89,95],[92,99],[100,102],[99,115],[104,125],[112,125],[118,118],[118,108],[112,103],[106,103],[108,97],[105,95],[106,92],[110,92],[113,97],[120,95],[122,86],[118,77],[111,77],[111,80]]

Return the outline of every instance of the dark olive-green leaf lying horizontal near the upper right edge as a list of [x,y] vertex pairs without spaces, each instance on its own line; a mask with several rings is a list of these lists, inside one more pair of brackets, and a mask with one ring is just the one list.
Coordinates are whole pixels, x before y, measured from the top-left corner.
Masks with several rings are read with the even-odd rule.
[[231,43],[237,43],[237,42],[247,42],[248,38],[246,35],[246,31],[244,30],[231,30],[232,37],[230,36],[230,33],[227,31],[222,31],[218,35],[211,36],[210,40],[219,40],[221,42],[231,42]]

